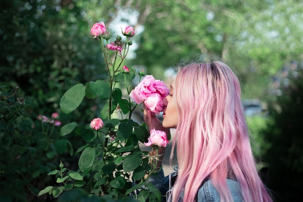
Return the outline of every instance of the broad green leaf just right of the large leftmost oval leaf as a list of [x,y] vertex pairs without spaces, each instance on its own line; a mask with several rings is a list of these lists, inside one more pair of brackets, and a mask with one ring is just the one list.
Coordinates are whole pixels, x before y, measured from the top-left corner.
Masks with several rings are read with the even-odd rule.
[[109,99],[111,94],[111,89],[108,81],[96,80],[91,81],[90,84],[91,92],[98,95],[100,99]]

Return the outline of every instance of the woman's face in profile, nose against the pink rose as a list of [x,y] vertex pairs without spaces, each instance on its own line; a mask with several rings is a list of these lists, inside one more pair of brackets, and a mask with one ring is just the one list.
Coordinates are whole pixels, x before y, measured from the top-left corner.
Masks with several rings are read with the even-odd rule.
[[176,128],[179,121],[179,113],[173,101],[175,81],[170,85],[170,92],[163,98],[163,122],[162,125],[167,128]]

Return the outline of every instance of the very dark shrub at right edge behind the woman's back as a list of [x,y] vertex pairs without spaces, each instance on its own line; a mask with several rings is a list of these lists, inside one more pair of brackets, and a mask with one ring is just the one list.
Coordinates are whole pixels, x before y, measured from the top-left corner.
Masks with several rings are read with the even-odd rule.
[[266,156],[270,162],[270,188],[277,202],[301,200],[299,184],[303,181],[303,69],[289,77],[269,105],[269,122],[262,131],[270,142]]

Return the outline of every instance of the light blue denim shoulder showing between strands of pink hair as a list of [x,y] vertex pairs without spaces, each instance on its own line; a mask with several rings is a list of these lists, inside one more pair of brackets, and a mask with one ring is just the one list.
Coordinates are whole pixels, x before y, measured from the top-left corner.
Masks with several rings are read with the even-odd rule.
[[[232,179],[227,179],[227,186],[234,202],[242,202],[242,194],[240,184]],[[212,180],[206,181],[198,190],[197,202],[219,202],[219,192],[212,184]]]

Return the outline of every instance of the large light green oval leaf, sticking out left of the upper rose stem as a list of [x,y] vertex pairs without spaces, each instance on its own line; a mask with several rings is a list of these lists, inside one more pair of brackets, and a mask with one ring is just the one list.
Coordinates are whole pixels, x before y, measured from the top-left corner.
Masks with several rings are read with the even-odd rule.
[[67,90],[60,101],[61,110],[65,114],[69,114],[81,104],[85,95],[85,86],[82,83],[74,85]]

